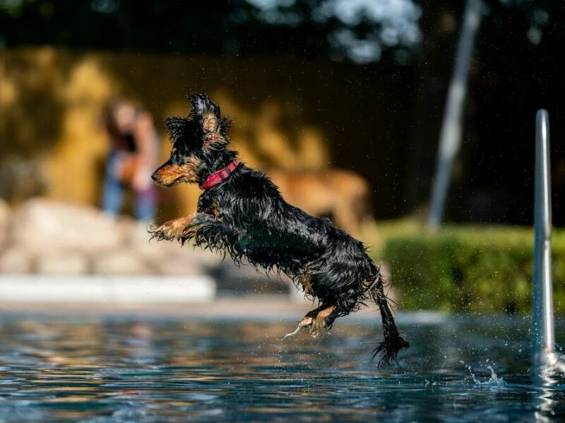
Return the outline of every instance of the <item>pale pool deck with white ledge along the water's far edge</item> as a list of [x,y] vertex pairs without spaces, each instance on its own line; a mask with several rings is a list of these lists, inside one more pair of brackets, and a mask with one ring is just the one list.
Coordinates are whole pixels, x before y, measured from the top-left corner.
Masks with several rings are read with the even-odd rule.
[[[314,302],[302,293],[220,291],[208,276],[0,275],[0,313],[143,314],[297,321]],[[439,323],[441,312],[399,312],[398,321]],[[349,319],[380,321],[376,305]]]

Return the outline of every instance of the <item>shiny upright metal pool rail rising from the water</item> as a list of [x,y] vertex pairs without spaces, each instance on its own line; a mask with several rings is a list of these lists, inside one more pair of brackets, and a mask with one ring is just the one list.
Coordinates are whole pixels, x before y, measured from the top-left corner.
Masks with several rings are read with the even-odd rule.
[[549,114],[540,109],[535,121],[532,353],[535,369],[543,374],[565,372],[565,356],[555,351],[550,174]]

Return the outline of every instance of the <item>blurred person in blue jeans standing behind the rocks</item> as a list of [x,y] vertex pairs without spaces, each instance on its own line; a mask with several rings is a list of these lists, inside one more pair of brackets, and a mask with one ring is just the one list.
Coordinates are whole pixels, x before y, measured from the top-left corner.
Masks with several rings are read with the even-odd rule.
[[135,195],[135,216],[138,221],[155,217],[155,185],[151,180],[157,165],[159,135],[148,111],[122,98],[115,98],[105,107],[105,127],[110,150],[106,162],[102,190],[102,210],[117,216],[124,204],[124,189]]

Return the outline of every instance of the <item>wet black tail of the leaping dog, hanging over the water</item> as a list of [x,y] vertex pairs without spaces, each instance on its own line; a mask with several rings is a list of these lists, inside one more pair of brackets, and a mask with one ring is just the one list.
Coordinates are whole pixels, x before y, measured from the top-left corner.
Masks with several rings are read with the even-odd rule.
[[381,310],[381,319],[383,321],[383,336],[384,341],[379,343],[379,345],[373,351],[374,360],[377,355],[379,355],[379,367],[385,366],[391,360],[396,361],[396,355],[398,351],[402,348],[410,347],[408,341],[405,340],[404,336],[396,328],[394,323],[393,314],[390,307],[388,307],[388,298],[384,294],[383,290],[383,277],[380,272],[377,272],[376,279],[369,288],[369,294],[371,298],[379,306]]

